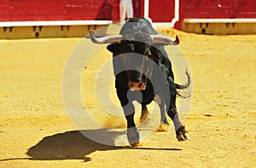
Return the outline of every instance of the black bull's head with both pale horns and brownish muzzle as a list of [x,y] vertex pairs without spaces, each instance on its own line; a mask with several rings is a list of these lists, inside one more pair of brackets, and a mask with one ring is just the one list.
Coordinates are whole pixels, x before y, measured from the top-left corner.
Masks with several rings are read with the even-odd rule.
[[122,55],[123,63],[120,64],[125,66],[126,84],[130,90],[146,89],[147,79],[150,79],[153,71],[152,63],[161,59],[154,44],[177,45],[179,43],[177,36],[174,40],[168,36],[149,35],[140,31],[103,37],[96,37],[90,31],[90,40],[97,44],[111,43],[108,45],[108,50],[113,53],[113,56]]

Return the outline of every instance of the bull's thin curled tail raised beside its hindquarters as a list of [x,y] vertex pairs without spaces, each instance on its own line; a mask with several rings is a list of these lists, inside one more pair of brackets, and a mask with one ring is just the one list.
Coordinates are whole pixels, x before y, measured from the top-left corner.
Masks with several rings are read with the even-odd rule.
[[179,84],[175,83],[176,89],[182,90],[182,91],[177,92],[177,96],[179,98],[189,98],[190,97],[190,91],[188,90],[188,87],[190,86],[191,81],[190,81],[190,76],[189,76],[188,70],[186,70],[186,75],[187,75],[188,81],[185,84],[179,85]]

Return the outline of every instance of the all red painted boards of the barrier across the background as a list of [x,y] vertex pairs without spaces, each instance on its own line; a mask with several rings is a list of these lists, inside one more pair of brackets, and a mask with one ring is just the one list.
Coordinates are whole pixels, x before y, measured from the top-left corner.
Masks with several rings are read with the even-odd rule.
[[[179,0],[176,28],[183,19],[256,18],[256,0]],[[175,0],[149,0],[149,17],[170,23]],[[134,16],[143,17],[144,0],[133,0]],[[119,20],[119,0],[2,0],[0,21]]]

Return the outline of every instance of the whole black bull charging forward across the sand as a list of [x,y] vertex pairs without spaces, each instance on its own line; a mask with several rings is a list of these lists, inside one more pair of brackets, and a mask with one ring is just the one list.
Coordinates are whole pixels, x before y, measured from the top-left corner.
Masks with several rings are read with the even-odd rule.
[[160,106],[161,124],[169,125],[166,112],[172,119],[177,140],[188,139],[185,126],[177,115],[177,89],[189,87],[190,77],[184,85],[174,83],[172,65],[164,49],[165,45],[177,45],[179,40],[157,35],[148,20],[131,19],[122,27],[119,35],[97,38],[90,32],[92,42],[108,45],[113,53],[113,70],[116,92],[127,120],[127,137],[132,146],[139,143],[139,133],[134,122],[135,108],[132,101],[142,104],[141,120],[148,116],[147,104],[153,100]]

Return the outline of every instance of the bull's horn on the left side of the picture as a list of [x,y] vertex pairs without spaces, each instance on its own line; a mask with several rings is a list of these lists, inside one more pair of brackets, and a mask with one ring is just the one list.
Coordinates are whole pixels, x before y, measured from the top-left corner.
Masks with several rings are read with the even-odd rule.
[[113,35],[113,36],[103,36],[96,37],[93,32],[90,30],[90,40],[96,44],[108,44],[108,43],[117,43],[122,40],[122,35]]

